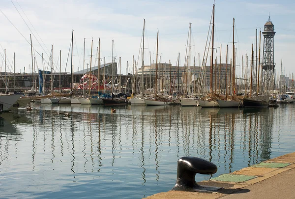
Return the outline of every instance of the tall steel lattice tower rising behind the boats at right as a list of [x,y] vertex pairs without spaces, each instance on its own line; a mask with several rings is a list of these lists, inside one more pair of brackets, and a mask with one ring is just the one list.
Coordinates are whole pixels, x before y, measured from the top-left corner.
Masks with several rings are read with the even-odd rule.
[[272,94],[275,90],[275,80],[274,80],[274,58],[273,58],[273,37],[274,37],[274,26],[268,17],[268,20],[264,27],[263,44],[263,60],[262,60],[262,76],[261,76],[261,89],[263,94]]

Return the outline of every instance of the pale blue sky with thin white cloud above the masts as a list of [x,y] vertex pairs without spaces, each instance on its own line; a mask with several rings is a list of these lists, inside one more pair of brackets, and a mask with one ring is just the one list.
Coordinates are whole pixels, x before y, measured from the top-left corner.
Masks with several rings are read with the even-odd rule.
[[[146,20],[145,65],[156,62],[156,39],[159,31],[158,61],[171,62],[172,66],[176,66],[180,53],[180,66],[184,66],[189,23],[191,23],[191,66],[194,57],[195,65],[198,66],[199,53],[202,60],[206,48],[213,3],[213,0],[1,0],[0,70],[5,71],[4,49],[6,49],[7,71],[13,72],[15,53],[15,71],[31,72],[31,34],[35,68],[43,68],[43,53],[44,69],[50,70],[49,60],[53,45],[54,71],[59,72],[61,50],[61,71],[71,72],[70,44],[74,30],[74,71],[90,67],[92,39],[91,66],[97,66],[100,38],[101,64],[104,60],[106,63],[112,62],[112,51],[114,51],[116,62],[119,62],[121,57],[121,74],[126,74],[127,61],[128,71],[132,70],[133,56],[134,60],[139,62],[138,67],[141,67],[144,19]],[[268,16],[276,32],[274,36],[276,74],[281,71],[281,66],[282,73],[287,76],[295,73],[294,0],[215,0],[214,57],[217,57],[218,63],[220,50],[221,62],[225,63],[226,45],[228,45],[229,59],[232,58],[233,18],[235,18],[236,74],[240,75],[242,65],[245,66],[245,54],[247,53],[248,59],[251,59],[252,42],[254,42],[255,56],[256,29],[259,44],[259,31],[260,29],[263,31]],[[85,64],[83,64],[84,38]],[[263,50],[263,35],[261,50]],[[261,52],[261,58],[262,55]]]

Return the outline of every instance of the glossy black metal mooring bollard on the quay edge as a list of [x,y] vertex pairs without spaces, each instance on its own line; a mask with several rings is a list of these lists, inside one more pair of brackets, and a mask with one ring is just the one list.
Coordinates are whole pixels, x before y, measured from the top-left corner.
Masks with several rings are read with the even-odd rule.
[[177,180],[172,190],[176,191],[214,191],[217,187],[205,187],[198,185],[195,181],[197,173],[216,173],[217,166],[213,163],[196,157],[182,157],[177,162]]

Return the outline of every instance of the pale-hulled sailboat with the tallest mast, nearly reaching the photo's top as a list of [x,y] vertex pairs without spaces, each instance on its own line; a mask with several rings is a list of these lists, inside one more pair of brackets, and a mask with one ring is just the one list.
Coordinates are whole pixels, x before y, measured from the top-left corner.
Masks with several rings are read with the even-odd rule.
[[214,9],[215,4],[213,4],[213,20],[212,20],[212,49],[211,49],[211,64],[210,64],[210,96],[206,99],[200,99],[199,105],[203,108],[205,107],[219,107],[216,100],[213,100],[213,53],[214,53]]

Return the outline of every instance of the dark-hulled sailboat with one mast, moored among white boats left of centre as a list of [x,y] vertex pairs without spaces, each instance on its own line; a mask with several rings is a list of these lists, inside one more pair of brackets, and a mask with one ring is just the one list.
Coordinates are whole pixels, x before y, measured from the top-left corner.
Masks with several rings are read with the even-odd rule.
[[111,98],[102,98],[103,105],[126,105],[127,100],[126,100],[126,95],[125,98],[122,98],[118,96],[118,98],[115,98],[114,95],[114,87],[115,87],[115,82],[114,82],[114,72],[115,72],[115,63],[114,63],[114,40],[113,40],[113,47],[112,47],[112,95]]

